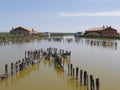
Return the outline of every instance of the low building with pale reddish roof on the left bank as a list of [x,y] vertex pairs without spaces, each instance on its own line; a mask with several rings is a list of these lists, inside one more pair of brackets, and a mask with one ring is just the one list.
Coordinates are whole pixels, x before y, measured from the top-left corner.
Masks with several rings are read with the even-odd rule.
[[17,27],[17,28],[12,28],[12,30],[10,30],[11,34],[23,34],[23,35],[32,35],[35,34],[36,31],[34,31],[34,29],[31,28],[26,28],[26,27]]

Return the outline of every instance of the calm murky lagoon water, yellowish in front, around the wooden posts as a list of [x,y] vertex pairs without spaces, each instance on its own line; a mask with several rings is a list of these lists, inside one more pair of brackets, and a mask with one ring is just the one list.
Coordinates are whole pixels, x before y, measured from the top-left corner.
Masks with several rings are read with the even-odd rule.
[[[73,40],[69,41],[67,38]],[[100,90],[120,89],[119,40],[64,37],[64,40],[59,41],[43,39],[29,43],[0,45],[0,74],[4,73],[4,64],[21,60],[25,50],[46,49],[48,47],[71,51],[71,63],[74,67],[86,70],[94,78],[100,78]],[[41,61],[0,83],[0,90],[21,89],[87,90],[86,87],[79,85],[79,80],[72,80],[71,77],[68,77],[67,72],[55,68],[48,61]]]

